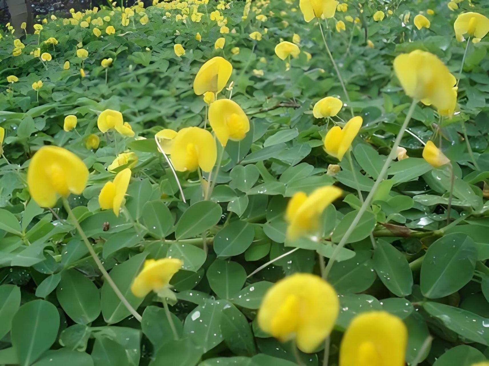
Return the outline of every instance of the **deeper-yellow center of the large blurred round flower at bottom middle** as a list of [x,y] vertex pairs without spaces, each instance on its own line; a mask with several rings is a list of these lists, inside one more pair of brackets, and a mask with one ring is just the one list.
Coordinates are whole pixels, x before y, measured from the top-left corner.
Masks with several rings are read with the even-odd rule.
[[289,295],[275,313],[271,321],[271,333],[280,341],[288,341],[299,327],[300,299],[297,295]]

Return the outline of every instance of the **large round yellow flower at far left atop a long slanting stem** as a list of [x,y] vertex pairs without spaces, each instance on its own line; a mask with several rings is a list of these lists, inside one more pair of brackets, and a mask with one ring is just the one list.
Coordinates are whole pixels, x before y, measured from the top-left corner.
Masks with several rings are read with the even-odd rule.
[[41,207],[53,207],[59,196],[82,194],[89,170],[72,152],[58,146],[43,146],[34,154],[27,170],[31,197]]

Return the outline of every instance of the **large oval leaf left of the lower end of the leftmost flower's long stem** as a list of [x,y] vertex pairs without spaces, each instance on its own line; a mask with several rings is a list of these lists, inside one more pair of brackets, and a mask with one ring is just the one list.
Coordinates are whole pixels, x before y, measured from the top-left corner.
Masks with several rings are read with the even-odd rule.
[[75,323],[88,324],[100,314],[97,286],[76,270],[67,270],[61,274],[56,296],[63,310]]

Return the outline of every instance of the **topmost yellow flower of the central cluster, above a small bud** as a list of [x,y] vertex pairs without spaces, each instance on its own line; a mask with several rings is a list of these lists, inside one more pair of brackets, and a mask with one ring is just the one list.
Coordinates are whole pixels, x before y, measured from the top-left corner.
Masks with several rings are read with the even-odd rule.
[[194,79],[194,92],[202,95],[205,92],[219,93],[224,89],[233,72],[229,61],[220,56],[211,58],[203,64]]

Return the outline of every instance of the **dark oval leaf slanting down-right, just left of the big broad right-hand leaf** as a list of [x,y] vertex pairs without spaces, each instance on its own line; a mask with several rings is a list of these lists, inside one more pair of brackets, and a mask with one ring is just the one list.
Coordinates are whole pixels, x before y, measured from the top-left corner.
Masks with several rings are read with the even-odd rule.
[[406,257],[394,246],[378,240],[374,251],[374,269],[382,283],[398,297],[411,295],[413,274]]

